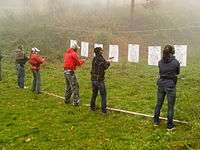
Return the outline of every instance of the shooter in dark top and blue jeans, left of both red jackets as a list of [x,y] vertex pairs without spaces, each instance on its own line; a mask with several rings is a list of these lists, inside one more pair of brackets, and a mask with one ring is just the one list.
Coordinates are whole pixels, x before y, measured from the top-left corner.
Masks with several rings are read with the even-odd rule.
[[19,88],[26,88],[24,86],[24,79],[25,79],[25,68],[24,65],[28,61],[28,57],[25,55],[23,50],[23,45],[18,46],[16,50],[16,70],[17,70],[17,84]]

